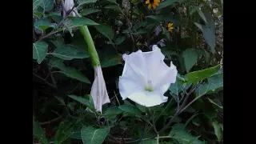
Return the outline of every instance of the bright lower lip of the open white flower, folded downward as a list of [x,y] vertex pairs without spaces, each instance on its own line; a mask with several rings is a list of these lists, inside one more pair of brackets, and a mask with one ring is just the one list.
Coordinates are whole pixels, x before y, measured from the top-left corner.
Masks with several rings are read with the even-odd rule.
[[168,98],[159,94],[159,91],[154,90],[152,92],[144,91],[131,94],[128,98],[130,100],[146,107],[157,106],[162,102],[167,102]]

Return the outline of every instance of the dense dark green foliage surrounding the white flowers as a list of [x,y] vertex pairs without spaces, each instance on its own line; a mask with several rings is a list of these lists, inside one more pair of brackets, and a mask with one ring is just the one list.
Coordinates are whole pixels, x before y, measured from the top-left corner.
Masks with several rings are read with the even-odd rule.
[[[34,143],[223,142],[221,0],[74,1],[82,18],[68,16],[72,10],[63,17],[62,2],[33,0]],[[110,96],[102,114],[90,96],[94,69],[82,25]],[[154,44],[178,69],[168,102],[146,108],[122,101],[122,54]]]

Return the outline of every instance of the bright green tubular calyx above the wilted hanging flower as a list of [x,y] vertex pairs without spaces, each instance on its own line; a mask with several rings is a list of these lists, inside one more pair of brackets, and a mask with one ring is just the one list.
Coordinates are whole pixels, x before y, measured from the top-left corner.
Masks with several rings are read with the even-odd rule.
[[87,46],[88,46],[88,52],[90,54],[90,59],[94,67],[100,66],[101,63],[99,62],[98,53],[94,46],[93,38],[90,36],[90,31],[87,26],[79,26],[79,30],[85,39]]

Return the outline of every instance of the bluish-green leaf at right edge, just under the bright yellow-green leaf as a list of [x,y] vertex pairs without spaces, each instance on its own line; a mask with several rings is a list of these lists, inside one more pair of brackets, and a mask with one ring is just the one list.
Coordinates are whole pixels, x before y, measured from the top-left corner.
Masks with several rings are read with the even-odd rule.
[[196,90],[197,97],[202,97],[203,95],[209,93],[210,91],[218,90],[223,87],[223,75],[213,76],[208,78],[208,83],[204,83],[198,87]]

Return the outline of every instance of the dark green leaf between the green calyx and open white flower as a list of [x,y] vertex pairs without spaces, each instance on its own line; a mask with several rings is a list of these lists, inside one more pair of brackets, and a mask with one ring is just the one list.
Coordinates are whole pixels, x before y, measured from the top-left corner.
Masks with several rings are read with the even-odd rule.
[[119,54],[102,58],[102,62],[101,62],[102,68],[109,67],[109,66],[115,66],[118,64],[122,64],[122,55],[119,55]]

